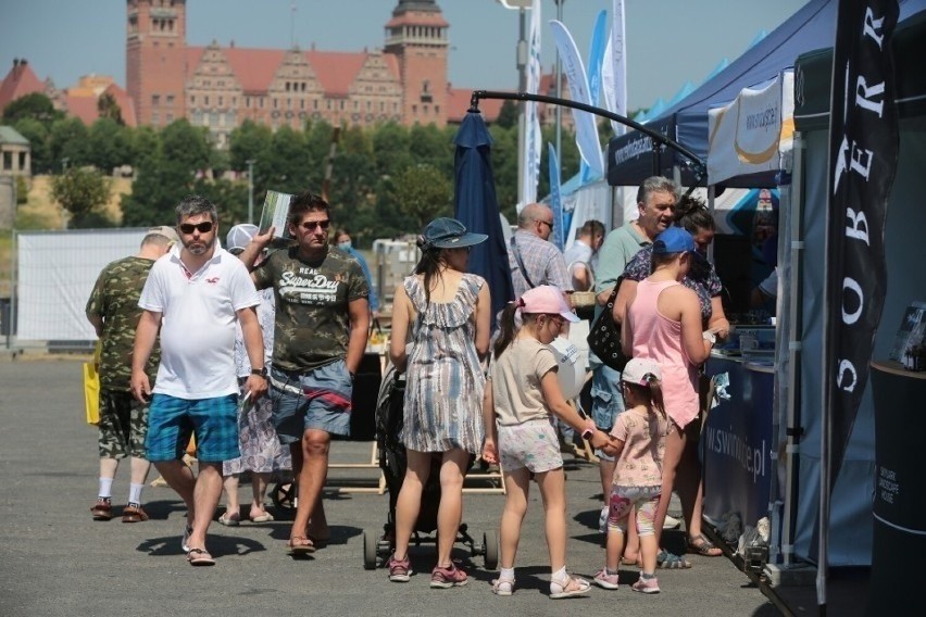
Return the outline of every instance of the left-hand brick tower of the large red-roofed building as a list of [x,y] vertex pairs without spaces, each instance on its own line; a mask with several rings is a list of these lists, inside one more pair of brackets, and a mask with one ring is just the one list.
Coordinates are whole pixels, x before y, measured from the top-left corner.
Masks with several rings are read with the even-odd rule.
[[126,0],[125,83],[139,125],[186,116],[186,0]]

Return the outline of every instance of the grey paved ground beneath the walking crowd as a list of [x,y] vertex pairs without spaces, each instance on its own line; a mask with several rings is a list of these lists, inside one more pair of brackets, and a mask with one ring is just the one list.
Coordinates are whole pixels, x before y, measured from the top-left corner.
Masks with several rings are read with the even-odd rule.
[[[518,558],[518,587],[496,597],[493,574],[481,557],[466,564],[472,582],[430,590],[428,577],[390,583],[384,569],[363,569],[364,529],[381,529],[388,495],[327,493],[331,544],[314,558],[285,554],[288,522],[210,528],[212,568],[187,565],[179,547],[183,506],[166,488],[148,488],[147,522],[90,519],[97,490],[96,431],[84,424],[80,364],[74,360],[10,361],[0,357],[0,614],[42,615],[778,615],[774,605],[726,558],[689,555],[690,570],[660,571],[663,592],[646,596],[629,585],[595,588],[588,597],[558,603],[548,597],[549,567],[539,494],[531,499]],[[362,462],[368,444],[339,443],[335,461]],[[114,484],[114,505],[124,505],[127,465]],[[374,470],[350,473],[375,478]],[[603,563],[597,525],[597,469],[568,466],[573,518],[570,569],[591,577]],[[338,471],[343,476],[345,471]],[[248,487],[243,487],[248,490]],[[503,496],[468,494],[464,520],[478,538],[497,528]],[[285,513],[283,513],[285,515]],[[680,536],[671,541],[678,542]],[[468,559],[458,544],[455,557]],[[412,552],[413,566],[429,572],[434,549]],[[625,568],[622,581],[637,578]]]

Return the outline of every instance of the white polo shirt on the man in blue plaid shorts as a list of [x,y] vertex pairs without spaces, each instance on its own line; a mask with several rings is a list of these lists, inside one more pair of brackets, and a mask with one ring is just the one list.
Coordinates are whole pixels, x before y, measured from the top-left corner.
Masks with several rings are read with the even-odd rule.
[[215,252],[189,274],[175,247],[151,268],[138,306],[161,313],[161,366],[153,392],[178,399],[236,394],[238,311],[260,304],[248,268],[228,251]]

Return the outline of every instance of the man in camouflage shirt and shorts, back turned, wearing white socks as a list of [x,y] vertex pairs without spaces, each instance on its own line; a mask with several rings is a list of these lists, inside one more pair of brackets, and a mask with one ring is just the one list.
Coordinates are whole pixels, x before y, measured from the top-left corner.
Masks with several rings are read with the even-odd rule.
[[[150,463],[145,457],[148,404],[132,395],[132,351],[135,327],[141,316],[138,298],[154,262],[178,240],[172,227],[152,227],[141,240],[138,254],[108,264],[87,301],[87,319],[100,338],[100,490],[90,508],[93,520],[112,518],[112,483],[120,458],[130,457],[132,479],[123,522],[148,520],[141,508],[141,490]],[[159,354],[151,355],[146,370],[158,373]]]

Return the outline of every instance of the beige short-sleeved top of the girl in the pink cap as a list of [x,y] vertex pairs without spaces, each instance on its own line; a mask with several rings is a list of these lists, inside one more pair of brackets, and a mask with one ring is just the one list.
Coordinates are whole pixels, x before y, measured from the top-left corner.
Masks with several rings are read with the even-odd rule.
[[499,425],[549,419],[540,381],[559,365],[553,350],[531,337],[515,338],[501,357],[492,361],[492,400]]

